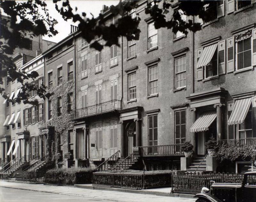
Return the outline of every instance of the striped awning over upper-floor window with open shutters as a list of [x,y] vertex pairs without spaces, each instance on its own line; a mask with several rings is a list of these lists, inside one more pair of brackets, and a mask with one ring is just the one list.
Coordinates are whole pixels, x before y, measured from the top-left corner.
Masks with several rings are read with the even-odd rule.
[[207,46],[204,48],[202,55],[200,56],[196,68],[203,67],[208,65],[212,60],[212,57],[216,51],[218,44],[212,44],[211,46]]

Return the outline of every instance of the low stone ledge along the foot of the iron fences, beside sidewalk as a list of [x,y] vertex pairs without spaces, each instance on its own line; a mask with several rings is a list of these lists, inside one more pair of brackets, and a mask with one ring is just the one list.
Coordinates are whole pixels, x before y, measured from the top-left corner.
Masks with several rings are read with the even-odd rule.
[[129,193],[141,193],[141,194],[153,194],[157,196],[170,196],[170,197],[181,197],[181,198],[193,198],[195,194],[182,194],[182,193],[170,193],[171,187],[167,188],[155,188],[148,190],[133,190],[133,189],[121,189],[121,188],[112,188],[104,186],[92,186],[92,184],[74,184],[74,187],[84,188],[84,189],[93,189],[93,190],[103,190],[103,191],[122,191]]

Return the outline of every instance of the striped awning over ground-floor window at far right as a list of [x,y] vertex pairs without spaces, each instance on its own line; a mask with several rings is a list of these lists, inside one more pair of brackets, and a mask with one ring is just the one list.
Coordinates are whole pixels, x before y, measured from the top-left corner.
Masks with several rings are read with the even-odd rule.
[[228,119],[228,125],[244,123],[244,119],[248,113],[251,103],[252,103],[251,97],[236,100],[234,109]]

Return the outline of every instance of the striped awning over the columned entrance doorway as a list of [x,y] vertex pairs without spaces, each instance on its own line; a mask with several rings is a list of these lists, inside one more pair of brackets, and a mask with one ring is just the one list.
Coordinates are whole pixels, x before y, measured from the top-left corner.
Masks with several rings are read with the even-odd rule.
[[195,123],[189,129],[191,133],[201,132],[209,130],[209,126],[216,119],[216,111],[206,111],[202,113]]

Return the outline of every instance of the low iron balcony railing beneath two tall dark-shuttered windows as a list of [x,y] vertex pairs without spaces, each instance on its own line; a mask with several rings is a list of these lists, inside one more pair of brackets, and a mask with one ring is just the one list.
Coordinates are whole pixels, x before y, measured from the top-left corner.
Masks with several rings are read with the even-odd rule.
[[181,145],[182,144],[144,146],[140,147],[140,152],[142,156],[183,155],[184,152],[181,149]]

